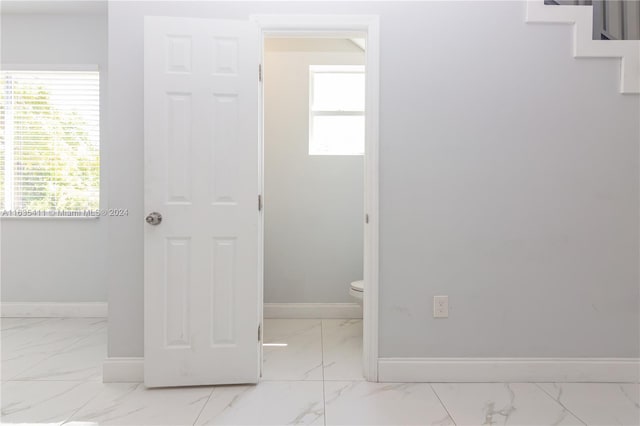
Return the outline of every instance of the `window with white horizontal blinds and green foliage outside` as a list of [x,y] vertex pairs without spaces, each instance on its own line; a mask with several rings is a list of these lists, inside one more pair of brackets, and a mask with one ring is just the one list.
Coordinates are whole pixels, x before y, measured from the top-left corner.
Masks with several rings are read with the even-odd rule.
[[99,208],[98,71],[0,72],[0,210]]

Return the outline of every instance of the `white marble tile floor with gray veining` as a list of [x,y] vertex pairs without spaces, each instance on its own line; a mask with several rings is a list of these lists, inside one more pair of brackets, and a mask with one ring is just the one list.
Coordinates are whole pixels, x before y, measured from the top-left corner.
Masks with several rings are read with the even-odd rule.
[[101,382],[103,319],[2,319],[6,425],[640,425],[637,384],[368,383],[362,323],[266,320],[256,386]]

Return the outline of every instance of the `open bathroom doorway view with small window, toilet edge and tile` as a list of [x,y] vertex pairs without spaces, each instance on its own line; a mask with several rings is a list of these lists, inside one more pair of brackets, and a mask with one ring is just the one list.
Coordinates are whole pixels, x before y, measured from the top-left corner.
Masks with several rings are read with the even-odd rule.
[[265,380],[363,380],[364,35],[264,39]]

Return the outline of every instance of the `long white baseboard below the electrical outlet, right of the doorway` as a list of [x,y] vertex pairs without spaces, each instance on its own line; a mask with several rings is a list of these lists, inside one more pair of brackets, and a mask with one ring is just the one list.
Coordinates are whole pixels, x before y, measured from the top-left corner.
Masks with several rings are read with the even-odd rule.
[[380,358],[380,382],[638,382],[640,358]]

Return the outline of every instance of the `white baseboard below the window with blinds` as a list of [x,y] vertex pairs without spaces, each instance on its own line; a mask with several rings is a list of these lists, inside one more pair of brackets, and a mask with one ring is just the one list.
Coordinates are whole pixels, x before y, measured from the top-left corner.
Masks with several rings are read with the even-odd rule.
[[0,316],[3,318],[105,318],[107,304],[104,302],[4,302],[0,304]]

